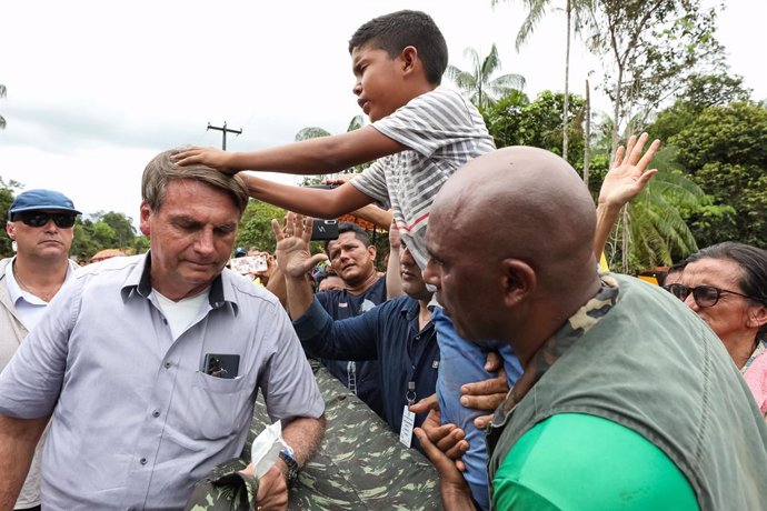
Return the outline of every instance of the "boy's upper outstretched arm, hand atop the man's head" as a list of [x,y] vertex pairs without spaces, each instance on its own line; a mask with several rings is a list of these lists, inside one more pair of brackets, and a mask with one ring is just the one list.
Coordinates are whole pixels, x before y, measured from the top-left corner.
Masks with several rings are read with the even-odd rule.
[[366,126],[347,133],[247,152],[192,147],[179,151],[180,166],[202,163],[222,172],[261,170],[292,174],[328,174],[406,150],[407,147]]

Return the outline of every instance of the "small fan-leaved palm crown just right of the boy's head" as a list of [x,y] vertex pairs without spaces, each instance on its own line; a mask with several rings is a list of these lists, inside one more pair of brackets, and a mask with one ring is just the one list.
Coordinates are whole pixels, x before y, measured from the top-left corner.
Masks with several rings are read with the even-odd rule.
[[459,89],[469,96],[469,100],[479,108],[488,108],[512,90],[522,90],[525,77],[521,74],[502,74],[492,78],[500,70],[498,49],[492,44],[490,54],[485,59],[474,48],[464,50],[464,58],[471,62],[471,71],[464,71],[455,66],[448,66],[448,77]]

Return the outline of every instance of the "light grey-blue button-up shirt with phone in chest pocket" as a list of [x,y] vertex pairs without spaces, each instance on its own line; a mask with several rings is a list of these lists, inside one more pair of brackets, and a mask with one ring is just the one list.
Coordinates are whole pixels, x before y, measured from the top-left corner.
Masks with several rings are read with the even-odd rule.
[[[0,413],[53,413],[44,509],[180,509],[192,485],[241,451],[258,389],[272,420],[323,402],[270,293],[228,270],[176,341],[149,298],[149,258],[84,268],[0,375]],[[207,353],[239,355],[237,378]]]

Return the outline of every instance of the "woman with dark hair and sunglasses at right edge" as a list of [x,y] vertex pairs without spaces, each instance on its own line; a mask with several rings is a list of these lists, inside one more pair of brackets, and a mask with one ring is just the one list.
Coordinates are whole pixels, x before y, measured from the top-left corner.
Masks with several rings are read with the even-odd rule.
[[721,339],[767,418],[767,251],[729,241],[705,248],[666,288]]

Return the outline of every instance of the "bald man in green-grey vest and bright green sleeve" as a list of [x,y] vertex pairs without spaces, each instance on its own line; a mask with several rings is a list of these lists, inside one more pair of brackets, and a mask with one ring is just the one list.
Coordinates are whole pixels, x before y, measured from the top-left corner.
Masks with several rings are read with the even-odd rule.
[[[525,370],[488,429],[494,508],[763,509],[767,429],[721,342],[660,288],[599,275],[595,229],[580,178],[541,149],[477,158],[435,200],[426,281],[462,337]],[[445,508],[471,509],[416,434]]]

